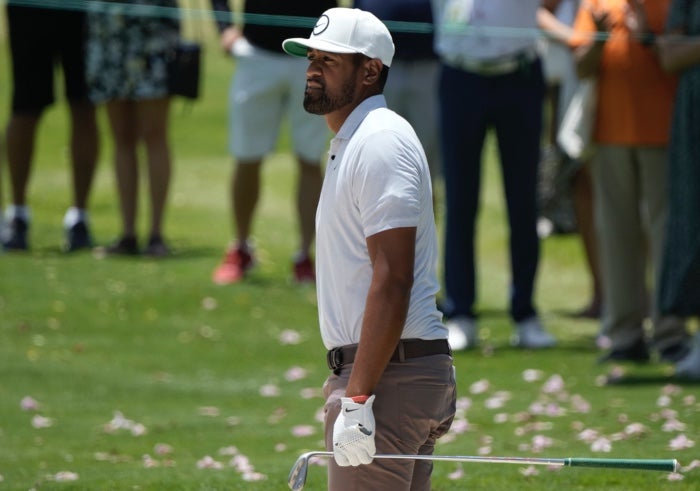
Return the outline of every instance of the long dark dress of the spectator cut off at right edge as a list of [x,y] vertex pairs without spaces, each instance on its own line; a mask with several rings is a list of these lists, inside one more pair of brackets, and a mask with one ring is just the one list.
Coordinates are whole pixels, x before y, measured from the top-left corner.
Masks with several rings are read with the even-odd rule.
[[[700,0],[673,0],[669,31],[700,35]],[[700,64],[680,74],[669,146],[669,209],[659,306],[700,314]]]

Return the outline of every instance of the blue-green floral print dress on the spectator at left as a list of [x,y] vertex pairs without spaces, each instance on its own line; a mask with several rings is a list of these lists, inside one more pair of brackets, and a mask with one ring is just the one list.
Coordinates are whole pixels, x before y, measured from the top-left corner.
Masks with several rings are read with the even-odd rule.
[[86,49],[90,99],[103,103],[168,96],[168,61],[179,33],[177,0],[93,2]]

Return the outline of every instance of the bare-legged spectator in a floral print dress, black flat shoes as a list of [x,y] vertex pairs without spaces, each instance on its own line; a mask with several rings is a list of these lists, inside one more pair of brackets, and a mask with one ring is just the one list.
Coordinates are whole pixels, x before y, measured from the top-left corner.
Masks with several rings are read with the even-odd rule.
[[[136,6],[154,10],[138,14]],[[180,35],[177,7],[176,0],[119,0],[101,2],[88,14],[90,98],[106,107],[122,221],[121,237],[105,248],[107,254],[141,253],[136,230],[141,144],[151,204],[150,232],[143,252],[153,257],[170,254],[163,221],[172,166],[168,59]]]

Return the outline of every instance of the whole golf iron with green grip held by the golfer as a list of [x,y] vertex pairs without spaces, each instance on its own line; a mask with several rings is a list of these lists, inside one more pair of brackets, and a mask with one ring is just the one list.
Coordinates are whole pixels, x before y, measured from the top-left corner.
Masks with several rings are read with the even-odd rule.
[[[299,456],[289,472],[287,484],[293,491],[301,491],[306,484],[309,459],[314,456],[332,457],[333,452],[307,452]],[[375,459],[432,460],[436,462],[482,462],[489,464],[550,465],[562,467],[604,467],[608,469],[637,469],[642,471],[675,472],[678,469],[676,459],[589,459],[585,457],[568,457],[560,459],[533,457],[471,457],[462,455],[387,455],[378,454]]]

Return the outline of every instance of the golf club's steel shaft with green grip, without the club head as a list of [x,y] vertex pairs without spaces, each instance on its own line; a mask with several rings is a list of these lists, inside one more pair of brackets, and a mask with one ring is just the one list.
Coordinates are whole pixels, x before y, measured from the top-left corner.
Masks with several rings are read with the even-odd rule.
[[[313,452],[313,455],[332,457],[333,452]],[[597,458],[535,458],[535,457],[487,457],[468,455],[402,455],[377,454],[375,459],[432,460],[435,462],[482,462],[491,464],[552,465],[562,467],[598,467],[608,469],[637,469],[644,471],[675,472],[675,459],[597,459]]]

